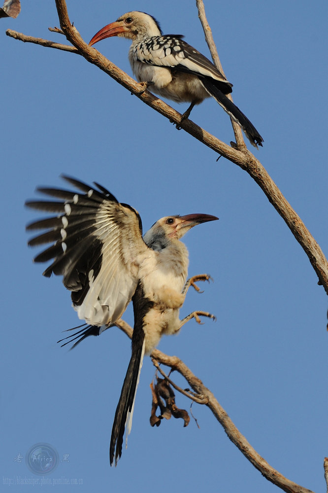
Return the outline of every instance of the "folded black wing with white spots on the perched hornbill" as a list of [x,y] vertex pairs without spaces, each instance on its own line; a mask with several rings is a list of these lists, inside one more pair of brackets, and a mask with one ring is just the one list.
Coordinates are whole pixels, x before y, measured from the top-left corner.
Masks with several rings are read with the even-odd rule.
[[149,37],[134,46],[134,60],[156,67],[176,68],[199,77],[210,77],[224,94],[230,93],[232,84],[220,70],[181,37],[180,35]]

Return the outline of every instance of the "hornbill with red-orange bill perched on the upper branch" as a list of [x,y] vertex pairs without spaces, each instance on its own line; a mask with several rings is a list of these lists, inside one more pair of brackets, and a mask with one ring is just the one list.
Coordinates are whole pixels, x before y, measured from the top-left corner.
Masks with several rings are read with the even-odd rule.
[[145,12],[128,12],[98,31],[90,46],[101,39],[123,36],[132,39],[129,61],[143,87],[177,103],[190,102],[192,108],[212,96],[245,132],[252,145],[262,145],[262,137],[227,94],[232,84],[215,65],[182,40],[182,35],[163,35],[159,23]]

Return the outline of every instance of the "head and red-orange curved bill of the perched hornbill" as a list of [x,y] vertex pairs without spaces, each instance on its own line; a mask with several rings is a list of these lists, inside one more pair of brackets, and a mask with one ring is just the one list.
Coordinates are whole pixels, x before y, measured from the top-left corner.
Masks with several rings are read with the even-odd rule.
[[98,31],[91,39],[89,45],[92,46],[101,39],[111,36],[123,36],[129,39],[136,39],[144,36],[160,36],[161,28],[157,20],[145,12],[127,12]]

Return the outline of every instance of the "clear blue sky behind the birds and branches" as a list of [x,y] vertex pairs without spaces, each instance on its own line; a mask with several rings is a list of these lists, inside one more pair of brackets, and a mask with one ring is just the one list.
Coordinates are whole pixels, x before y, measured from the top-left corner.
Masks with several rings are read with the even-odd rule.
[[[184,34],[208,55],[194,2],[116,3],[68,1],[70,19],[89,41],[124,12],[143,10],[158,18],[164,33]],[[327,3],[207,0],[205,7],[234,102],[264,138],[256,156],[327,253]],[[113,328],[74,351],[61,349],[62,331],[79,320],[61,280],[43,278],[43,265],[32,263],[38,250],[26,246],[25,224],[40,215],[26,210],[25,200],[35,197],[36,185],[61,185],[59,175],[66,173],[96,180],[131,204],[144,230],[168,214],[220,217],[185,237],[190,275],[208,272],[215,281],[203,294],[190,291],[181,310],[181,316],[208,310],[217,322],[191,321],[160,349],[190,366],[272,466],[323,491],[328,303],[308,258],[241,169],[224,158],[216,162],[212,150],[82,57],[5,35],[10,28],[65,42],[47,30],[58,25],[54,1],[22,0],[16,20],[0,19],[3,478],[34,477],[24,459],[14,458],[46,442],[61,459],[69,454],[49,477],[83,479],[83,486],[66,491],[277,491],[206,407],[193,406],[200,429],[174,419],[150,427],[149,358],[128,450],[116,469],[109,467],[130,342]],[[131,74],[127,40],[107,39],[96,48]],[[191,117],[221,140],[233,139],[230,119],[214,100]],[[132,323],[131,311],[125,318]],[[180,395],[177,403],[189,409]]]

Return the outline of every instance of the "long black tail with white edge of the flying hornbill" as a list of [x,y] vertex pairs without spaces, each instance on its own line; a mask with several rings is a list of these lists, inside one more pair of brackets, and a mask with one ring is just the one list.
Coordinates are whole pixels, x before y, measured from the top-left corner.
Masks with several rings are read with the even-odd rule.
[[114,456],[115,465],[117,465],[117,461],[122,455],[123,436],[126,424],[128,424],[127,435],[131,431],[135,394],[144,355],[143,331],[140,331],[138,335],[138,341],[132,342],[131,359],[121,390],[120,400],[116,408],[109,446],[110,465],[113,464]]

